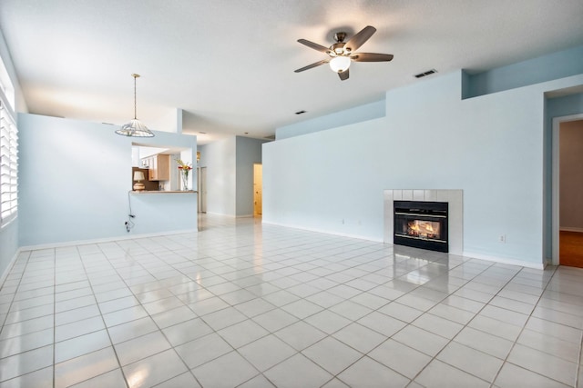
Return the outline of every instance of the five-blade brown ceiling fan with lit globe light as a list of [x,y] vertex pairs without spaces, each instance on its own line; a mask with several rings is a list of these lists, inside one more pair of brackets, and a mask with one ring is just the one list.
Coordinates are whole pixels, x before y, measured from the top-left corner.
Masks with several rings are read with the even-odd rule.
[[324,47],[316,43],[310,42],[306,39],[298,39],[302,45],[307,45],[314,50],[320,51],[329,58],[322,59],[312,65],[307,65],[301,69],[295,70],[295,73],[303,72],[304,70],[312,69],[323,64],[330,64],[333,72],[338,73],[340,79],[345,81],[348,79],[348,68],[352,61],[354,62],[388,62],[393,59],[392,54],[374,54],[374,53],[354,53],[360,48],[373,34],[376,28],[371,25],[364,27],[358,34],[354,35],[350,40],[344,43],[346,33],[339,32],[334,34],[335,44],[330,47]]

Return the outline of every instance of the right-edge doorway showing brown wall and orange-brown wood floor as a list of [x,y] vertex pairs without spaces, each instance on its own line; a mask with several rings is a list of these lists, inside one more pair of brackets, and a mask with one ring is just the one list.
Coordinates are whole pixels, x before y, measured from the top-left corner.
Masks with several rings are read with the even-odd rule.
[[583,114],[553,120],[553,264],[583,268]]

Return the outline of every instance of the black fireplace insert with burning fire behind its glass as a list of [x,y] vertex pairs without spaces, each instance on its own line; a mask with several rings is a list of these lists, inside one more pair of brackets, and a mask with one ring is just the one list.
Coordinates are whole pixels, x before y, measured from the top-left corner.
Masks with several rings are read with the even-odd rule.
[[449,252],[446,202],[394,201],[394,244]]

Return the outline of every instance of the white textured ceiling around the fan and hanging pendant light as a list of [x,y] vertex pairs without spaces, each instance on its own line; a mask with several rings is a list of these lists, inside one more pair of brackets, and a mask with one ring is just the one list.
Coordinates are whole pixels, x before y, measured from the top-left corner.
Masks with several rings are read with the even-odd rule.
[[[435,68],[480,72],[583,45],[581,0],[2,0],[0,28],[30,113],[145,124],[185,112],[199,144],[378,101]],[[358,51],[393,54],[354,63],[340,81],[325,56],[365,25]],[[435,75],[434,75],[435,76]],[[296,115],[305,110],[306,114]],[[149,125],[151,126],[151,125]],[[152,127],[152,129],[156,129]],[[206,132],[208,134],[199,134]],[[249,133],[249,134],[245,134]]]

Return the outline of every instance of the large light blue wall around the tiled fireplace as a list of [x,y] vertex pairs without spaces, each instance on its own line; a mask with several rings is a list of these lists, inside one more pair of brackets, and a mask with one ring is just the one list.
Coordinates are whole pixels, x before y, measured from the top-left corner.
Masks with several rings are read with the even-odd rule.
[[462,78],[389,91],[384,118],[264,144],[263,221],[382,241],[384,189],[463,189],[466,254],[541,264],[544,93],[583,75],[467,100]]

